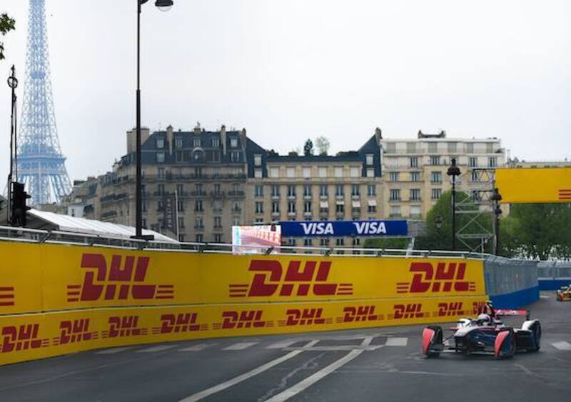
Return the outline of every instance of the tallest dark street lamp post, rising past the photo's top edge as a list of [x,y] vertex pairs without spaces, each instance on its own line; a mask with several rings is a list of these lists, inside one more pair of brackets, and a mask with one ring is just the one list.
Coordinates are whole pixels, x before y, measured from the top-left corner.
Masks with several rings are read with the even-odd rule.
[[[153,236],[143,236],[143,208],[141,194],[141,6],[148,0],[137,1],[137,91],[136,91],[136,173],[135,173],[135,236],[143,240],[152,240]],[[155,6],[168,11],[173,0],[156,0]]]

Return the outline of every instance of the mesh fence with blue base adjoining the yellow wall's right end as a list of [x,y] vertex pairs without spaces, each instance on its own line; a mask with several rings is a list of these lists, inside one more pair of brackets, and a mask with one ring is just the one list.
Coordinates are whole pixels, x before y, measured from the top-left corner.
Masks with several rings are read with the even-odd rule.
[[484,275],[495,308],[520,308],[540,298],[537,261],[489,256]]

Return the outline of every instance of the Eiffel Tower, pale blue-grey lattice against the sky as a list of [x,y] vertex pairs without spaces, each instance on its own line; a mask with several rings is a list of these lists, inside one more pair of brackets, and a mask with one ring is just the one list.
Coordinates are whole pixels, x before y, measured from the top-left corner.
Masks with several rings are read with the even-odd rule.
[[18,144],[19,181],[31,205],[59,203],[71,191],[51,95],[44,0],[30,0],[26,82]]

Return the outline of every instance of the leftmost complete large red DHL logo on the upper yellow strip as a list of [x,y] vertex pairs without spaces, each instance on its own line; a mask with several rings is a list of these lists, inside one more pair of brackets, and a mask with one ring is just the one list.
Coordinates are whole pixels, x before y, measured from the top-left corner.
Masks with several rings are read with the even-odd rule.
[[83,285],[68,285],[67,301],[171,299],[174,285],[143,284],[148,257],[112,256],[111,265],[103,254],[84,253],[81,268],[86,268]]

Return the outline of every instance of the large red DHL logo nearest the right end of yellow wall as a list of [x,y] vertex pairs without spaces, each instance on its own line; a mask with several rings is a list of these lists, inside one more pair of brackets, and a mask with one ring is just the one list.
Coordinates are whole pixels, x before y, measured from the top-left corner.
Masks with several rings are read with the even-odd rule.
[[414,272],[412,282],[398,282],[397,293],[426,292],[475,292],[475,282],[465,281],[466,263],[440,262],[434,270],[428,262],[410,264],[410,272]]

